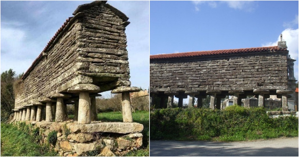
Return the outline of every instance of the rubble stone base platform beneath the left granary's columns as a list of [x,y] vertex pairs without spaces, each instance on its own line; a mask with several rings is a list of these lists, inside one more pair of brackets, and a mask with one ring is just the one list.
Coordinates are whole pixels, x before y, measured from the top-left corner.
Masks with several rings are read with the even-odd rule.
[[13,121],[39,128],[39,142],[50,143],[49,136],[57,138],[51,147],[60,156],[123,156],[142,146],[143,125],[139,123],[99,122],[77,124],[77,121]]

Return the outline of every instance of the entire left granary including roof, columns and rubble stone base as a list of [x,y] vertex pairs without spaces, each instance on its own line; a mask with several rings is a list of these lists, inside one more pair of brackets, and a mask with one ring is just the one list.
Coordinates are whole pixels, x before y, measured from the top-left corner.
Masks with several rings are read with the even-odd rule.
[[[86,156],[94,150],[122,156],[140,148],[143,137],[143,125],[133,122],[131,111],[129,93],[139,88],[129,81],[129,18],[106,1],[80,5],[73,15],[21,78],[13,123],[38,128],[40,143],[49,143],[50,132],[56,132],[51,146],[60,156]],[[109,90],[122,94],[126,123],[97,121],[95,97]],[[75,121],[67,121],[67,104],[74,104]]]

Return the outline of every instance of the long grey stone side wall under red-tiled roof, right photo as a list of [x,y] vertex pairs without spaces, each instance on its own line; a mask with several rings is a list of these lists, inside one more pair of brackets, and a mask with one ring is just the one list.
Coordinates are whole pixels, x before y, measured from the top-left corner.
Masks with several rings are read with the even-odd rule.
[[151,60],[151,92],[288,89],[288,51]]

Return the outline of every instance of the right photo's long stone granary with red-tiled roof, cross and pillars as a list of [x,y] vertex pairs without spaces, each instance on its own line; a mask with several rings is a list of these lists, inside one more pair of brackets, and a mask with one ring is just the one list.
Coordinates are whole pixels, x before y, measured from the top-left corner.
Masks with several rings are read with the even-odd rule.
[[[277,46],[231,50],[198,51],[150,56],[150,105],[160,97],[160,108],[171,107],[173,97],[189,95],[188,107],[202,106],[202,98],[211,96],[210,108],[220,109],[221,98],[233,95],[240,105],[247,95],[256,95],[264,106],[269,95],[282,97],[283,111],[288,110],[287,98],[295,100],[294,62],[286,41]],[[167,105],[164,104],[168,98]]]

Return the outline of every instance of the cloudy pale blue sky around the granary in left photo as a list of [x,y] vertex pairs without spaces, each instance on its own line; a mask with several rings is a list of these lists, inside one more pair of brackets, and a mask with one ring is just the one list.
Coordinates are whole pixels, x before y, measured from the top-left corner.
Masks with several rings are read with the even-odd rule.
[[[92,1],[1,1],[1,73],[25,72],[80,4]],[[108,1],[129,17],[132,86],[149,88],[149,1]],[[109,93],[106,93],[109,96]]]

